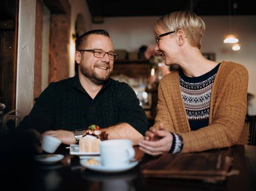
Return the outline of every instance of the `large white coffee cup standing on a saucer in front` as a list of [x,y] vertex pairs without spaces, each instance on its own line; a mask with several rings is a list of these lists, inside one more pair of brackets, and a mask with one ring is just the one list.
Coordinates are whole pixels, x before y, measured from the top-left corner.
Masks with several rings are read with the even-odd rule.
[[99,143],[101,163],[106,167],[124,167],[134,158],[132,141],[127,139],[104,140]]

